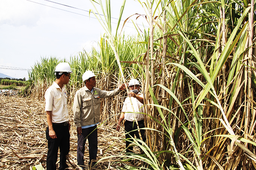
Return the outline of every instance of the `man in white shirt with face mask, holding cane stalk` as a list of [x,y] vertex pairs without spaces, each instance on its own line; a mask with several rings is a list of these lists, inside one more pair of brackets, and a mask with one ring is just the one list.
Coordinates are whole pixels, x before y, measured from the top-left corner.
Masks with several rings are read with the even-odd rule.
[[[144,128],[144,101],[143,101],[143,94],[139,92],[140,89],[140,83],[136,79],[131,79],[129,82],[129,88],[130,92],[128,93],[128,96],[131,97],[131,102],[133,104],[134,112],[136,113],[136,118],[139,124],[140,133],[142,135],[142,140],[145,142],[145,130],[141,129]],[[137,124],[134,118],[133,109],[131,106],[130,98],[127,97],[125,99],[125,102],[123,103],[122,113],[120,115],[116,130],[120,130],[120,123],[125,119],[125,138],[131,138],[134,137],[134,134],[136,135],[137,139],[140,139],[139,132],[133,131],[137,129]],[[126,141],[126,148],[130,145],[131,142]],[[133,152],[133,146],[130,146],[126,149],[126,153]]]

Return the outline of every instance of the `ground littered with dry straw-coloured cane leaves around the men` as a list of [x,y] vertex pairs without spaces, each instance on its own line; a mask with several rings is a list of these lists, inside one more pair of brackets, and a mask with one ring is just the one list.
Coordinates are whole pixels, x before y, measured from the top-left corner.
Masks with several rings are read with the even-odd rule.
[[[46,169],[47,128],[44,102],[18,96],[0,95],[0,169],[26,170],[38,164]],[[77,136],[73,122],[72,109],[70,112],[70,152],[68,158],[69,169],[76,168]],[[98,157],[97,160],[107,156],[123,155],[125,142],[124,132],[117,132],[115,125],[98,127]],[[85,150],[85,165],[89,160],[88,143]],[[118,163],[117,157],[101,161],[91,169],[120,169],[125,163]],[[59,160],[57,161],[58,164]],[[139,165],[137,165],[138,167]],[[139,166],[140,167],[140,166]],[[86,167],[86,169],[89,169]]]

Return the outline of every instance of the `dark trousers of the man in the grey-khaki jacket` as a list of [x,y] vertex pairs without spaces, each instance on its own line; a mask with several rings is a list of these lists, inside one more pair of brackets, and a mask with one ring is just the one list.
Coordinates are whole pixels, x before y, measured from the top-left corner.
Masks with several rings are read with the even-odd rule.
[[78,134],[77,141],[77,164],[84,165],[84,150],[85,150],[85,142],[88,139],[89,143],[89,159],[95,160],[97,157],[98,151],[98,129],[97,125],[89,128],[82,129],[82,134]]

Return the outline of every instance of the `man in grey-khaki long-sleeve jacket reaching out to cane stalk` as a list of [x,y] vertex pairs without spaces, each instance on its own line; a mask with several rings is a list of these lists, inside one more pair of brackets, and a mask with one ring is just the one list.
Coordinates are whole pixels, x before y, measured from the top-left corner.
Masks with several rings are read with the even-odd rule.
[[[78,146],[77,146],[77,162],[78,165],[84,167],[84,150],[85,142],[88,138],[89,143],[89,165],[91,160],[95,160],[98,151],[98,131],[97,124],[100,119],[101,99],[113,97],[119,94],[120,91],[125,89],[125,85],[122,84],[119,88],[112,91],[104,91],[96,86],[96,78],[93,72],[86,71],[82,76],[85,86],[79,89],[74,98],[73,113],[74,121],[76,124],[76,131],[78,134]],[[94,165],[92,163],[92,165]]]

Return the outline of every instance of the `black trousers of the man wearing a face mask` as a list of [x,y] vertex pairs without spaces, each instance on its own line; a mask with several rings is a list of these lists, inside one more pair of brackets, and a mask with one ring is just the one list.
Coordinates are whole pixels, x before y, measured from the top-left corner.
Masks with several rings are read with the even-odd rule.
[[[138,124],[139,124],[139,128],[140,128],[140,134],[142,136],[142,140],[143,140],[143,142],[145,142],[146,141],[145,130],[141,129],[141,128],[145,128],[144,120],[138,121]],[[133,121],[133,122],[125,121],[125,132],[127,133],[127,134],[125,134],[125,138],[128,139],[128,138],[134,137],[134,135],[135,135],[137,139],[140,139],[139,132],[136,129],[138,129],[136,121]],[[136,131],[133,131],[133,130],[136,130]],[[125,142],[126,142],[126,148],[127,148],[131,142],[128,142],[128,141],[125,141]],[[133,146],[130,146],[129,148],[127,148],[126,153],[127,152],[133,152]]]

